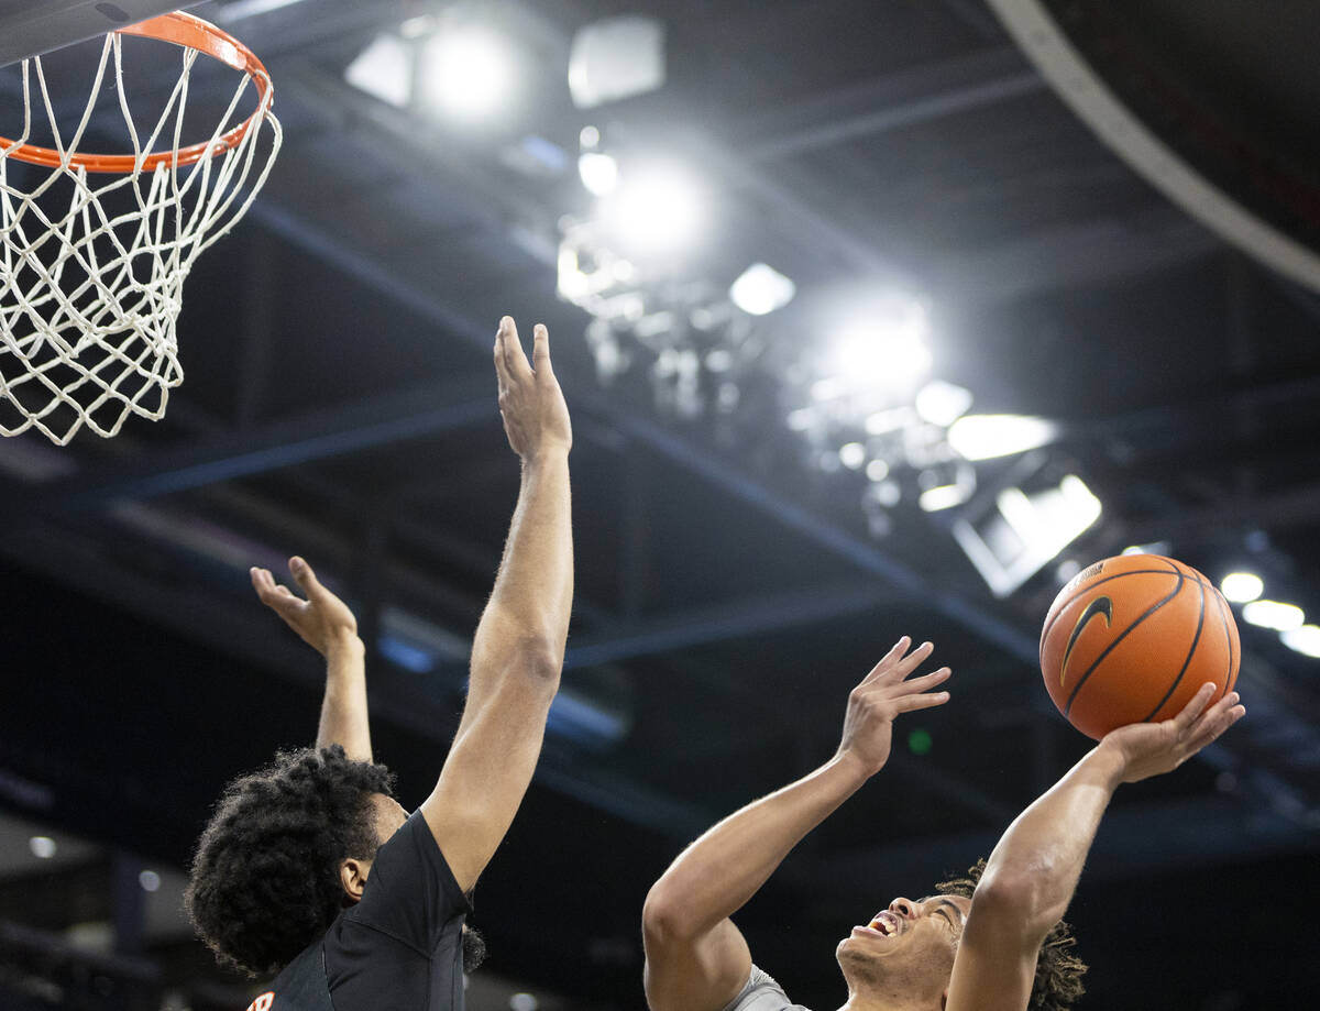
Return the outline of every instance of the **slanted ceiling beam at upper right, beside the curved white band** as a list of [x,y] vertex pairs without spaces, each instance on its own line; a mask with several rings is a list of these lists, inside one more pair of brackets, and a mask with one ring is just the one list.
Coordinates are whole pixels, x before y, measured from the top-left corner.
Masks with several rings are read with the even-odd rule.
[[1016,49],[999,46],[776,104],[744,120],[734,139],[750,161],[777,161],[1044,90]]

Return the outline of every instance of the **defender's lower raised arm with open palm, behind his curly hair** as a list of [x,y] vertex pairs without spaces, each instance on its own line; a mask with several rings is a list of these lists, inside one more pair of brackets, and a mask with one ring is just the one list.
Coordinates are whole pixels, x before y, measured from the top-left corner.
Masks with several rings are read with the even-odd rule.
[[261,603],[326,659],[326,693],[321,702],[317,747],[341,744],[348,758],[371,762],[367,673],[358,619],[343,601],[321,585],[302,558],[289,558],[289,571],[306,599],[276,583],[269,569],[252,569],[252,586]]

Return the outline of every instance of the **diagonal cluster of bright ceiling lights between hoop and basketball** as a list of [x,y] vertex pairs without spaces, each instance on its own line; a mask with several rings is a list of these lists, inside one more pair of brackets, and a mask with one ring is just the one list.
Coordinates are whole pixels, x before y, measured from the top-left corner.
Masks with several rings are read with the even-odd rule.
[[[451,4],[376,38],[346,77],[396,107],[479,123],[508,107],[525,63],[515,40],[500,34],[480,5]],[[568,86],[579,108],[663,82],[659,22],[606,18],[573,40]],[[560,162],[572,164],[556,150]],[[890,531],[890,511],[912,494],[900,476],[915,475],[920,509],[944,512],[977,492],[977,462],[1052,441],[1049,422],[970,414],[970,391],[928,376],[928,313],[911,294],[871,298],[842,323],[821,321],[818,329],[833,334],[829,342],[767,370],[756,321],[789,305],[796,285],[760,261],[727,286],[685,276],[684,253],[711,216],[698,179],[680,165],[611,150],[595,127],[581,131],[577,173],[594,203],[583,218],[561,220],[557,288],[591,317],[586,339],[603,383],[645,360],[657,407],[694,420],[734,414],[741,380],[752,370],[770,372],[810,465],[862,479],[862,508],[875,536]],[[989,519],[956,520],[952,531],[991,590],[1006,595],[1088,529],[1100,502],[1081,478],[1065,475],[1049,487],[1002,488],[991,509]],[[1018,549],[1005,554],[1010,541]]]

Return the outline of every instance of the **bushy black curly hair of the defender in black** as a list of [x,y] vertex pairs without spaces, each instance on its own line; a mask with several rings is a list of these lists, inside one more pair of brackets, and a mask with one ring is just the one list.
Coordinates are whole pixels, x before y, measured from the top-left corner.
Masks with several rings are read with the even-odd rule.
[[393,775],[338,744],[281,751],[224,788],[183,896],[222,965],[275,973],[330,928],[341,862],[376,854],[374,793],[393,796]]

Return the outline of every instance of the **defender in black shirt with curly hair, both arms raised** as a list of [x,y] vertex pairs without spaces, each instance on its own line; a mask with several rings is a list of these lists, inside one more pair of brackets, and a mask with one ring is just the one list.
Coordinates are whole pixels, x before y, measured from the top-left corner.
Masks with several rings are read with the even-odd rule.
[[252,569],[261,602],[325,657],[326,688],[315,747],[226,787],[193,861],[185,903],[202,938],[224,965],[277,973],[251,1011],[463,1007],[463,971],[483,953],[473,887],[540,756],[573,602],[573,432],[549,337],[537,325],[528,360],[504,317],[494,351],[517,504],[454,743],[411,816],[372,760],[352,611],[302,558],[289,560],[301,595]]

